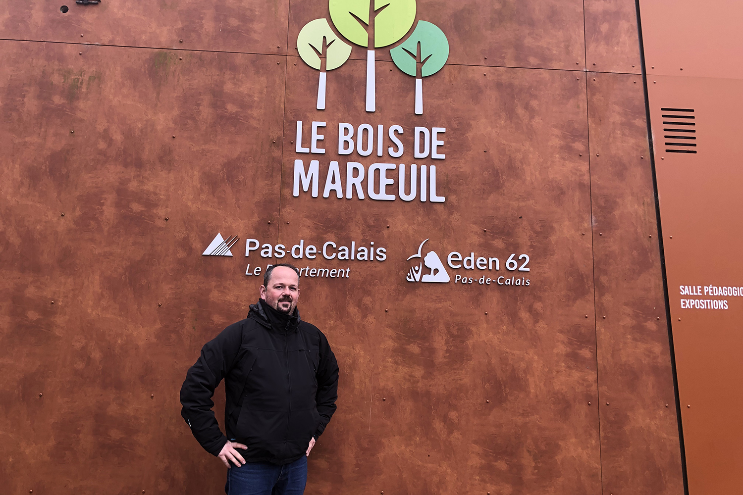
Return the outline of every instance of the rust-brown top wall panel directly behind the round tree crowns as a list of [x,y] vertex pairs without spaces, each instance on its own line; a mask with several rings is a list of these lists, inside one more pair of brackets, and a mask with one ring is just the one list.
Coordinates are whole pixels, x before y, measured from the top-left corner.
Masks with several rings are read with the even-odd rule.
[[[585,67],[581,1],[418,0],[416,4],[416,21],[432,22],[447,35],[449,63],[568,70]],[[328,1],[293,0],[291,42],[302,26],[320,17],[330,19]],[[391,60],[389,48],[398,44],[376,50],[377,60]],[[289,54],[293,54],[291,50]],[[351,58],[366,59],[366,47],[354,45]]]

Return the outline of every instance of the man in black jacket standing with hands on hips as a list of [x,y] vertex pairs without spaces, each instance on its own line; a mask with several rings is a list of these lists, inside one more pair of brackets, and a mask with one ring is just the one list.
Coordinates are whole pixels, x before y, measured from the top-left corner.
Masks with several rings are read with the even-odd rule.
[[[270,266],[260,295],[247,318],[201,349],[181,387],[181,416],[229,468],[227,495],[302,495],[307,456],[336,409],[338,364],[325,335],[299,319],[296,267]],[[222,378],[227,436],[212,411]]]

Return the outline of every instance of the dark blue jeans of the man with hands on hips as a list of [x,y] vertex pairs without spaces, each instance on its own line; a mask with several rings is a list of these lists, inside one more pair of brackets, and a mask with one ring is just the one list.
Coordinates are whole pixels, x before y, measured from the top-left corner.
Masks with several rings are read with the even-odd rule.
[[247,462],[227,470],[227,495],[302,495],[307,485],[307,457],[277,466],[270,462]]

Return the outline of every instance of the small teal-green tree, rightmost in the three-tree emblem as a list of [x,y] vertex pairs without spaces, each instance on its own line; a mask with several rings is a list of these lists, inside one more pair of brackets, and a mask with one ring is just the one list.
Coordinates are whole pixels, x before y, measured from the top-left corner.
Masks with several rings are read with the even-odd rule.
[[437,73],[449,58],[449,41],[436,24],[418,21],[415,30],[400,46],[389,50],[392,61],[415,77],[415,114],[423,114],[423,78]]

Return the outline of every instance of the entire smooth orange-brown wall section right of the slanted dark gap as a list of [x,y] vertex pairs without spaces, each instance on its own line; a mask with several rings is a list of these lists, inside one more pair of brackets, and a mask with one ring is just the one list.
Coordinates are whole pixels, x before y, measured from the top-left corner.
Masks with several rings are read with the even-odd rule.
[[689,493],[735,493],[743,484],[743,4],[643,0],[640,10]]

